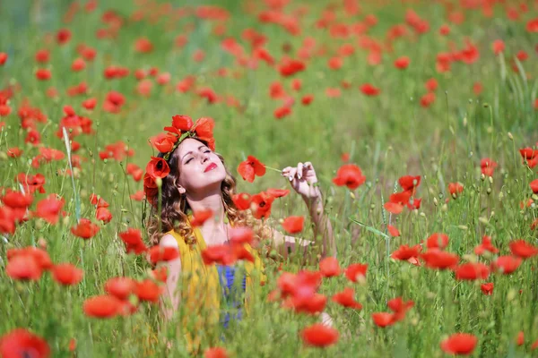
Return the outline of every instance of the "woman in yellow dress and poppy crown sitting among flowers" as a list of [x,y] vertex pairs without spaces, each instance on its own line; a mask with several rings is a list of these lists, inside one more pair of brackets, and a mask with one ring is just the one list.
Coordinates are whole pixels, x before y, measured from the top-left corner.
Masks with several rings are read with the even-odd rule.
[[[183,314],[182,325],[191,352],[203,343],[214,341],[216,336],[212,337],[210,327],[219,320],[227,327],[230,320],[240,319],[242,306],[248,311],[256,287],[265,283],[262,261],[248,243],[244,248],[252,260],[236,266],[205,265],[203,252],[212,247],[226,247],[230,243],[230,231],[238,226],[251,227],[257,242],[272,239],[274,247],[284,249],[284,255],[296,243],[294,237],[256,220],[249,209],[237,208],[232,198],[235,179],[221,155],[214,152],[213,125],[210,118],[200,118],[193,124],[188,116],[175,115],[172,125],[165,127],[168,134],[155,142],[161,153],[148,163],[144,176],[146,196],[154,211],[161,210],[160,217],[150,217],[152,243],[179,251],[177,259],[166,262],[168,278],[161,308],[168,322],[178,309],[187,313]],[[313,166],[308,162],[288,166],[282,175],[307,204],[315,235],[322,236],[321,256],[334,254],[332,227],[324,215]],[[198,226],[192,225],[193,213],[198,219],[197,213],[208,210],[212,217]],[[298,244],[305,246],[305,241]],[[239,295],[230,298],[238,292]],[[230,317],[230,311],[221,314],[223,302],[231,303],[233,316]]]

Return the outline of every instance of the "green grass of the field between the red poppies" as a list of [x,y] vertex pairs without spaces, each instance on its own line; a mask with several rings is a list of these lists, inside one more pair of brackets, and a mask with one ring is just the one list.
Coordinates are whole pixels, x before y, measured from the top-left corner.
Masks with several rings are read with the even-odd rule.
[[[432,2],[433,3],[433,2]],[[507,2],[508,3],[508,2]],[[31,6],[40,4],[41,8]],[[256,2],[261,9],[261,2]],[[221,39],[212,35],[213,23],[189,15],[177,21],[170,20],[169,12],[156,22],[133,21],[130,15],[138,10],[131,2],[110,4],[124,18],[116,39],[98,39],[95,31],[103,28],[101,15],[108,4],[100,2],[93,13],[83,10],[74,15],[70,23],[62,17],[66,2],[4,2],[0,4],[0,52],[9,59],[0,66],[0,89],[8,85],[20,86],[9,102],[12,114],[0,118],[5,126],[0,137],[0,180],[4,188],[19,190],[15,176],[19,173],[46,176],[46,194],[37,194],[30,209],[49,193],[65,198],[67,217],[51,226],[41,219],[32,218],[17,227],[14,235],[6,236],[0,246],[0,336],[12,328],[29,328],[44,337],[54,356],[73,356],[68,345],[76,339],[78,357],[141,356],[149,335],[148,324],[158,320],[156,305],[143,303],[139,310],[126,318],[96,320],[84,316],[82,303],[95,294],[103,294],[103,284],[110,277],[148,277],[150,265],[142,257],[126,255],[124,245],[117,237],[127,227],[143,229],[141,220],[143,204],[129,200],[129,194],[142,190],[142,182],[134,182],[125,175],[127,162],[142,168],[152,155],[148,138],[161,132],[172,115],[186,114],[193,118],[211,116],[216,123],[217,151],[226,158],[230,170],[237,175],[236,167],[247,155],[254,155],[267,166],[283,168],[299,161],[311,161],[321,182],[325,196],[325,210],[334,227],[337,240],[337,258],[342,267],[350,263],[368,263],[367,283],[353,284],[356,299],[362,303],[361,311],[344,309],[329,302],[326,311],[334,319],[334,328],[341,337],[336,345],[319,350],[303,345],[299,331],[317,321],[316,317],[295,314],[279,308],[279,303],[266,303],[265,297],[276,286],[275,267],[278,263],[267,260],[265,269],[268,284],[261,289],[260,303],[247,320],[239,322],[233,333],[226,333],[225,342],[230,355],[238,357],[317,357],[317,356],[369,356],[369,357],[440,357],[439,343],[456,332],[473,333],[478,337],[473,356],[525,357],[534,356],[530,346],[538,339],[538,276],[536,259],[525,260],[510,276],[492,274],[478,283],[457,281],[451,271],[417,268],[407,262],[389,259],[389,254],[401,244],[417,244],[430,234],[443,232],[449,235],[448,251],[464,260],[473,254],[473,247],[482,235],[492,236],[500,254],[509,254],[508,243],[516,238],[536,244],[536,231],[530,228],[538,217],[535,205],[520,209],[520,202],[531,197],[529,183],[536,175],[536,168],[522,164],[518,149],[533,147],[538,139],[538,115],[534,100],[538,90],[538,68],[534,50],[536,34],[525,31],[527,21],[536,17],[533,4],[529,12],[521,13],[519,21],[510,21],[501,5],[494,8],[495,16],[486,18],[480,10],[461,9],[465,21],[450,24],[447,12],[440,4],[421,2],[409,5],[416,13],[430,22],[430,31],[421,37],[409,34],[394,43],[394,52],[384,54],[377,66],[366,62],[367,52],[360,47],[354,55],[344,59],[342,69],[329,69],[326,62],[331,54],[344,43],[358,44],[358,38],[331,38],[327,30],[317,29],[315,22],[325,9],[325,2],[308,4],[308,13],[299,21],[302,33],[293,37],[273,24],[260,24],[256,16],[247,14],[244,6],[235,1],[224,5],[230,9],[226,22],[227,36],[241,39],[247,28],[265,34],[265,48],[280,60],[282,45],[289,43],[293,51],[299,49],[306,37],[316,38],[318,45],[326,47],[326,55],[313,56],[307,70],[293,78],[302,81],[302,89],[291,90],[291,79],[282,78],[267,64],[260,62],[256,70],[236,64],[232,55],[221,49]],[[334,2],[339,4],[340,2]],[[188,6],[198,2],[187,2]],[[296,9],[290,4],[286,9]],[[336,21],[353,23],[362,21],[365,14],[377,15],[377,26],[369,36],[384,40],[386,30],[396,23],[404,23],[406,6],[381,5],[377,2],[362,4],[362,15],[346,17],[342,7],[336,12]],[[37,10],[36,10],[37,9]],[[144,7],[151,16],[152,5]],[[30,13],[30,15],[28,15]],[[39,16],[40,15],[40,20]],[[171,28],[169,25],[174,26]],[[438,28],[449,23],[452,32],[447,37],[438,34]],[[187,33],[187,24],[194,30]],[[47,33],[67,27],[73,33],[71,41],[63,47],[48,44]],[[171,29],[171,30],[170,30]],[[187,46],[174,47],[174,38],[186,34]],[[134,52],[136,38],[152,40],[154,49],[149,54]],[[453,63],[450,72],[436,71],[436,55],[450,50],[454,42],[457,49],[464,47],[464,38],[471,38],[480,50],[474,64]],[[506,50],[494,55],[491,43],[503,39]],[[82,72],[71,72],[70,67],[76,46],[84,43],[97,50],[97,56]],[[51,61],[39,65],[34,60],[39,48],[50,50]],[[196,49],[204,49],[202,63],[192,60]],[[525,50],[529,58],[514,72],[510,61],[517,51]],[[296,52],[291,52],[295,57]],[[393,62],[400,55],[411,58],[409,68],[397,71]],[[122,65],[131,70],[129,76],[119,80],[106,80],[104,69]],[[171,81],[166,86],[153,84],[149,97],[137,94],[133,72],[139,68],[157,66],[169,72]],[[47,67],[52,71],[50,81],[37,81],[34,72]],[[226,67],[233,76],[219,77],[215,73]],[[525,73],[525,74],[524,74]],[[197,77],[196,85],[211,87],[218,95],[233,95],[239,99],[241,109],[225,103],[209,105],[195,93],[179,93],[175,84],[187,75]],[[423,83],[435,77],[438,81],[436,101],[429,107],[420,105],[426,93]],[[351,89],[341,88],[342,81],[350,81]],[[68,87],[82,81],[88,84],[87,95],[69,97]],[[269,97],[269,86],[281,81],[284,89],[296,98],[291,115],[276,120],[273,111],[281,104]],[[480,81],[483,91],[473,93],[473,83]],[[372,83],[381,89],[377,97],[360,93],[363,83]],[[48,98],[46,90],[55,87],[58,98]],[[327,98],[325,89],[341,88],[342,96]],[[126,104],[117,115],[102,110],[103,100],[109,90],[126,96]],[[300,104],[304,94],[315,96],[308,106]],[[95,110],[81,107],[82,100],[98,98]],[[76,153],[87,158],[82,169],[77,170],[74,187],[69,176],[56,175],[58,169],[67,167],[67,160],[43,164],[39,169],[30,166],[39,149],[24,143],[26,131],[21,128],[17,111],[28,99],[31,107],[47,115],[46,124],[37,124],[45,146],[65,151],[63,140],[56,138],[62,107],[71,105],[79,115],[93,121],[94,135],[76,138],[81,149]],[[102,161],[99,151],[105,145],[125,141],[134,149],[134,157],[122,162]],[[24,151],[21,158],[7,158],[8,148],[18,146]],[[354,192],[336,187],[332,178],[343,164],[340,157],[351,154],[350,161],[360,166],[367,176],[367,183]],[[492,180],[481,178],[480,159],[492,158],[499,163]],[[395,190],[395,183],[402,175],[421,175],[417,197],[422,198],[421,209],[390,215],[383,203]],[[242,181],[237,175],[239,192],[256,193],[268,187],[288,188],[282,176],[268,171],[255,183]],[[464,192],[456,200],[450,198],[447,184],[461,182]],[[396,188],[396,189],[395,189]],[[70,232],[76,223],[76,198],[80,198],[80,216],[93,219],[95,209],[89,196],[95,192],[110,204],[113,219],[101,225],[100,233],[91,240],[82,241]],[[534,195],[534,200],[538,198]],[[276,200],[273,221],[290,215],[308,215],[299,195]],[[358,226],[353,220],[360,221]],[[400,229],[401,237],[388,238],[386,224]],[[282,230],[278,224],[275,228]],[[144,233],[145,234],[145,233]],[[303,237],[313,239],[305,230]],[[145,238],[145,237],[144,237]],[[45,240],[51,259],[71,262],[82,268],[84,277],[73,287],[58,286],[45,273],[38,282],[18,282],[5,274],[6,251],[10,248],[36,245]],[[490,260],[480,258],[482,262]],[[285,262],[284,270],[297,270],[298,258]],[[316,269],[316,267],[310,267]],[[494,293],[483,295],[480,283],[493,282]],[[351,286],[345,277],[327,279],[320,293],[332,294]],[[520,292],[521,290],[521,292]],[[389,328],[377,328],[371,313],[387,311],[386,302],[404,296],[415,305],[405,320]],[[149,323],[148,323],[149,322]],[[525,345],[516,345],[516,335],[525,332]],[[173,332],[160,332],[160,344],[152,346],[155,355],[164,354],[164,337]],[[170,356],[186,355],[182,341],[172,348]]]

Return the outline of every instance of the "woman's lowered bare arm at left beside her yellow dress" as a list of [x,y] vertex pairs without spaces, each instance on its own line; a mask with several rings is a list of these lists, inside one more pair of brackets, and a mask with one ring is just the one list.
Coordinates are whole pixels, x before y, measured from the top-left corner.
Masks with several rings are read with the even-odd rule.
[[[176,239],[171,234],[162,236],[160,245],[162,247],[173,247],[179,250]],[[178,310],[178,305],[181,300],[181,295],[178,291],[178,280],[181,274],[181,259],[169,260],[164,263],[168,268],[168,277],[166,279],[165,291],[162,294],[161,310],[164,314],[164,319],[169,321],[174,316],[174,312]]]

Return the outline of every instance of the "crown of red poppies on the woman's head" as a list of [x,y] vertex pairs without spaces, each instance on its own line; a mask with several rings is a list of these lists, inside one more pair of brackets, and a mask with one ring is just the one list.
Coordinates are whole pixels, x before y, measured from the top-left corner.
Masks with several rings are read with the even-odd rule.
[[214,150],[215,140],[213,138],[213,127],[215,123],[212,118],[198,118],[193,124],[193,120],[188,115],[174,115],[172,125],[164,127],[166,135],[158,141],[153,142],[153,146],[159,150],[163,156],[152,157],[146,166],[146,173],[143,175],[143,191],[147,200],[155,206],[157,204],[157,178],[162,179],[169,175],[170,167],[168,160],[179,144],[187,138],[197,137],[207,142],[207,146]]

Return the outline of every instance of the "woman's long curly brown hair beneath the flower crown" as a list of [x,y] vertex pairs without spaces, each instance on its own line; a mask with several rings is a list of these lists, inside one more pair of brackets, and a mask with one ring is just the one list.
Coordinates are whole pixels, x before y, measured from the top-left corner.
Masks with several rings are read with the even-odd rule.
[[[196,136],[190,138],[200,141],[204,143],[204,145],[208,145],[207,141],[201,140]],[[236,189],[236,180],[234,176],[230,174],[230,171],[226,167],[224,158],[222,158],[221,154],[215,154],[217,154],[217,156],[221,159],[221,162],[226,169],[226,177],[221,183],[221,194],[222,205],[224,206],[224,211],[230,219],[230,223],[233,226],[251,227],[254,230],[255,237],[258,242],[271,237],[272,230],[266,222],[262,222],[261,220],[257,220],[255,217],[253,217],[249,209],[237,209],[232,200],[232,196]],[[164,154],[159,153],[158,157],[163,158]],[[161,220],[157,215],[158,206],[152,206],[150,212],[149,224],[147,227],[152,245],[159,244],[162,235],[172,229],[184,237],[187,243],[195,239],[193,229],[188,223],[188,211],[190,210],[190,207],[188,205],[187,198],[185,195],[179,195],[178,192],[178,178],[180,175],[178,171],[178,162],[177,148],[173,153],[171,153],[168,160],[170,173],[162,179]]]

